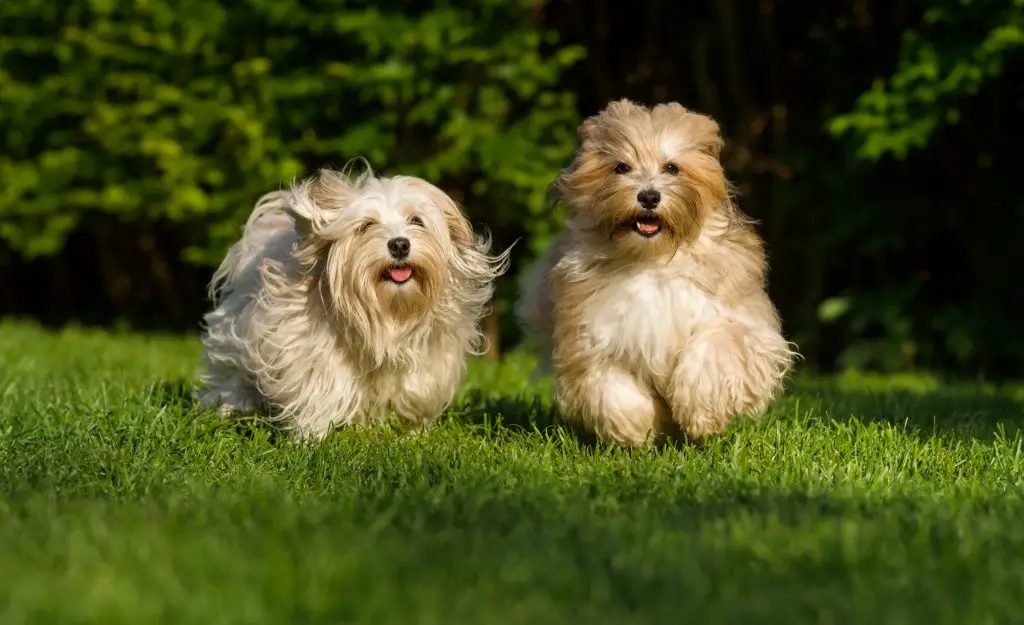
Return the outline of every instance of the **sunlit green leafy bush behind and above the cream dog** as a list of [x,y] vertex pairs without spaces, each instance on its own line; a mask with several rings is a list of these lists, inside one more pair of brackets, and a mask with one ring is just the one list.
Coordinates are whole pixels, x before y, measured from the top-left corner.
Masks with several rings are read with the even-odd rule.
[[408,7],[3,3],[0,237],[55,254],[108,213],[187,223],[184,258],[216,262],[256,196],[364,156],[543,240],[545,185],[572,153],[559,80],[583,50],[525,1]]

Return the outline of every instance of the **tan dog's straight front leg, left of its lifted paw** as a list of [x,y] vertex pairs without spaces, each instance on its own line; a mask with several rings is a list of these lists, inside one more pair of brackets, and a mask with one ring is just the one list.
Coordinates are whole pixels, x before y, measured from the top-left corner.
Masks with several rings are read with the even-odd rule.
[[663,430],[669,417],[668,406],[646,384],[610,363],[563,371],[555,395],[566,418],[621,445],[643,445],[651,432]]

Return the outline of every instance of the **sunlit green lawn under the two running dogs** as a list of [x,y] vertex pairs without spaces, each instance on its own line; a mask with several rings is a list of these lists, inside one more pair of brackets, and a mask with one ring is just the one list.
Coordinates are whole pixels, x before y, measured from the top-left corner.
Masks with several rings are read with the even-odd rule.
[[194,412],[193,339],[0,325],[0,623],[1006,623],[1020,391],[798,380],[700,447],[594,448],[531,362],[422,435]]

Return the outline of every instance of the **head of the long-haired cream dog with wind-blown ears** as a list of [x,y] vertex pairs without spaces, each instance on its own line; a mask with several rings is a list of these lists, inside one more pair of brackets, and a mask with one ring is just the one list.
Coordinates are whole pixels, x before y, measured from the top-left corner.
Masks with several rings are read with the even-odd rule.
[[295,185],[289,212],[295,256],[318,277],[329,312],[373,343],[424,322],[472,326],[508,264],[446,194],[413,176],[324,169]]

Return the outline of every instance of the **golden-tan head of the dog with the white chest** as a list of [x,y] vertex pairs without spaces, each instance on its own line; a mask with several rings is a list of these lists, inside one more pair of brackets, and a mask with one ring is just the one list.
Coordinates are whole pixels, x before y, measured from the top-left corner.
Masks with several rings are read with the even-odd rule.
[[613,101],[580,126],[580,150],[552,191],[595,244],[616,255],[674,253],[728,210],[718,124],[677,102]]

